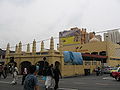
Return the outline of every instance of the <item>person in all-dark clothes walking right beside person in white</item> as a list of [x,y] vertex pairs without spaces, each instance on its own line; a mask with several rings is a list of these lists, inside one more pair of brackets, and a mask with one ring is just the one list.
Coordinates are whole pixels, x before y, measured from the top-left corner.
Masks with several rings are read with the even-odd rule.
[[58,88],[58,83],[59,83],[59,77],[62,78],[62,75],[61,75],[61,72],[60,72],[58,66],[55,66],[53,73],[54,73],[54,79],[55,79],[55,87],[54,87],[54,90],[57,90],[57,88]]

